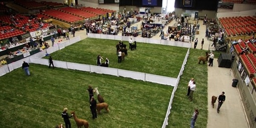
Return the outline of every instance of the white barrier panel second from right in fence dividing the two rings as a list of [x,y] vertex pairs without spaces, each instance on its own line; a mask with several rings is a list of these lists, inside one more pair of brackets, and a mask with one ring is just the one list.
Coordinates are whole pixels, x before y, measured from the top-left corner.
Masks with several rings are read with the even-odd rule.
[[118,76],[145,81],[145,73],[118,69]]

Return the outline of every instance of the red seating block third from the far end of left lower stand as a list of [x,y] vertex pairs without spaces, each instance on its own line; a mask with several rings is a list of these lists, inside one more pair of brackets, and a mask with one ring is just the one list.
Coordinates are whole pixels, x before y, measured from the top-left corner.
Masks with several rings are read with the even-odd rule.
[[64,13],[61,12],[59,10],[47,10],[45,12],[43,12],[44,15],[48,16],[48,17],[52,17],[54,19],[66,22],[66,23],[73,23],[73,22],[78,22],[78,21],[82,21],[83,18],[68,14],[68,13]]

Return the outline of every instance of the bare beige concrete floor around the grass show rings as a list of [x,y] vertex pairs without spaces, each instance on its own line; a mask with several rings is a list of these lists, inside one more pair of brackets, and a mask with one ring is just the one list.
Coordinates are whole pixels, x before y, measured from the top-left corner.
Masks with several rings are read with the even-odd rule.
[[[208,50],[209,45],[212,44],[212,41],[208,41],[205,37],[206,26],[202,24],[203,21],[199,21],[199,35],[195,35],[198,38],[198,46],[197,49],[201,49],[201,41],[204,38],[203,49]],[[134,24],[132,26],[137,26],[140,28],[141,22]],[[172,26],[175,24],[175,21],[172,21],[164,28],[164,32],[167,31],[168,26]],[[118,35],[120,35],[119,33]],[[81,40],[87,38],[86,31],[80,30],[77,31],[75,36],[80,36]],[[160,39],[160,33],[153,37],[153,39]],[[73,38],[70,35],[70,39]],[[56,39],[55,42],[59,40],[65,41],[66,39]],[[47,41],[51,46],[51,41]],[[192,42],[192,47],[194,46],[194,42]],[[212,49],[210,47],[210,49]],[[247,128],[247,118],[245,116],[245,112],[243,106],[241,104],[241,99],[239,97],[238,89],[231,86],[233,76],[231,75],[229,68],[219,68],[217,65],[217,59],[214,59],[213,67],[208,67],[208,121],[207,128],[217,128],[217,127],[225,127],[225,128]],[[211,96],[219,96],[221,92],[224,91],[226,95],[226,100],[222,104],[220,108],[220,113],[217,113],[216,107],[217,102],[215,103],[215,108],[211,106]],[[199,118],[200,119],[200,115]]]

